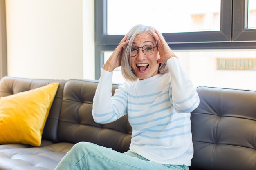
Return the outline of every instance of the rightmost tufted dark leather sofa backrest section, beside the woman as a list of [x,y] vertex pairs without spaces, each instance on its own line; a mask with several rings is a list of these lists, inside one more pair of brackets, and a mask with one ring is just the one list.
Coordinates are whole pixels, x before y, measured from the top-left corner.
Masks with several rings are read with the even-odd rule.
[[256,91],[198,87],[190,170],[256,168]]

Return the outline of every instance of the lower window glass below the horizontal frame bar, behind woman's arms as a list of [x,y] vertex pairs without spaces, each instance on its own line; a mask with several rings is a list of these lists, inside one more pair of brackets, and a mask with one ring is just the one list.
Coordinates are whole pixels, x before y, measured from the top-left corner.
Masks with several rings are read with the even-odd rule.
[[[256,90],[256,51],[174,51],[195,87]],[[105,62],[112,52],[105,52]],[[112,82],[122,83],[121,69]]]

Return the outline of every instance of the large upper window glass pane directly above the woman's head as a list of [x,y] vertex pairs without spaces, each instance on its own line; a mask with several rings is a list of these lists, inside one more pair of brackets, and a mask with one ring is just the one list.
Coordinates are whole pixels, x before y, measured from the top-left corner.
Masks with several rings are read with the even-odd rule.
[[109,35],[124,35],[137,24],[161,33],[220,30],[220,0],[108,0],[107,7]]

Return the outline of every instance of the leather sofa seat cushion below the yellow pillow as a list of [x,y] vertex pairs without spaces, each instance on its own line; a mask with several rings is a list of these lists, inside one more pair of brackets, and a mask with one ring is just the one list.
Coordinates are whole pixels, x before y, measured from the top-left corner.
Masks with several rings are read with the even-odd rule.
[[54,170],[73,145],[62,142],[41,147],[2,149],[0,169]]

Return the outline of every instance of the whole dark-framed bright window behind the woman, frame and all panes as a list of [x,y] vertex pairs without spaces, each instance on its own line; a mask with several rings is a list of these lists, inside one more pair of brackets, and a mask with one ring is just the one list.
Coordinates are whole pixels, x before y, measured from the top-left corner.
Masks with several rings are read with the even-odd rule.
[[[255,90],[253,85],[249,85],[256,84],[255,80],[252,79],[252,77],[256,76],[256,68],[254,66],[254,59],[256,59],[255,0],[186,1],[189,3],[193,2],[193,7],[196,9],[195,11],[184,10],[186,12],[182,11],[182,9],[186,9],[186,7],[191,6],[191,4],[184,3],[183,0],[179,2],[175,0],[159,0],[158,2],[160,4],[166,3],[166,5],[160,6],[162,9],[170,9],[170,11],[163,10],[165,13],[169,12],[170,14],[164,15],[162,20],[156,21],[155,19],[155,25],[154,22],[148,23],[148,21],[141,19],[144,18],[143,16],[148,16],[145,15],[145,13],[148,14],[146,9],[149,11],[161,11],[155,3],[154,6],[151,5],[149,7],[147,5],[150,3],[138,5],[140,8],[145,7],[146,9],[142,14],[137,13],[139,15],[138,18],[131,17],[132,21],[130,21],[131,18],[125,17],[124,15],[119,14],[119,16],[117,16],[118,10],[122,9],[124,13],[126,9],[130,11],[130,8],[137,8],[129,7],[129,5],[136,4],[138,1],[127,1],[127,4],[122,1],[122,7],[117,8],[117,10],[115,10],[116,8],[111,9],[113,5],[112,2],[115,4],[120,3],[117,1],[118,0],[97,0],[95,2],[95,11],[97,11],[95,13],[96,79],[100,76],[99,70],[103,67],[104,60],[111,55],[111,51],[116,48],[124,34],[135,24],[145,24],[150,26],[156,25],[155,27],[163,33],[166,42],[180,58],[180,62],[189,73],[195,86],[205,85]],[[151,1],[148,0],[147,2]],[[179,16],[179,18],[182,19],[180,19],[179,22],[176,21],[177,26],[171,28],[170,26],[164,26],[168,24],[168,21],[175,20],[170,16],[171,12],[173,12],[171,10],[173,6],[168,3],[172,3],[173,6],[177,5],[177,8],[186,13],[185,15],[187,16],[177,14],[175,17],[177,18],[177,16]],[[196,5],[197,3],[200,5]],[[211,6],[211,8],[207,9],[209,7],[207,7],[206,4],[209,3],[213,4],[208,5]],[[196,12],[200,11],[200,8],[202,12]],[[110,9],[114,14],[110,13]],[[136,16],[135,14],[132,15]],[[117,22],[115,18],[118,17],[122,17],[126,22]],[[152,17],[153,15],[150,15],[149,18]],[[182,28],[184,27],[184,18],[187,18],[186,22],[189,22],[189,26],[186,26],[185,29]],[[125,25],[127,24],[127,20],[129,20],[128,24],[131,23],[132,25]],[[181,26],[181,28],[179,28],[179,26]],[[118,29],[116,29],[116,27],[118,27]],[[218,65],[218,62],[225,63],[225,61],[229,61],[234,63],[240,60],[250,63],[251,65],[244,70],[239,70],[236,67],[223,67],[223,65],[220,67],[220,65]],[[209,70],[210,68],[211,70]],[[205,72],[202,72],[202,70],[205,70]],[[208,75],[207,72],[209,72]],[[205,73],[205,75],[202,75],[203,73]],[[120,68],[115,70],[113,81],[119,83],[123,81]]]

